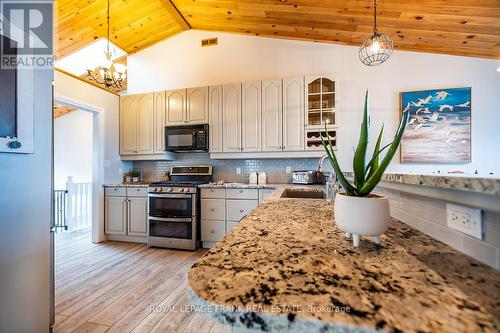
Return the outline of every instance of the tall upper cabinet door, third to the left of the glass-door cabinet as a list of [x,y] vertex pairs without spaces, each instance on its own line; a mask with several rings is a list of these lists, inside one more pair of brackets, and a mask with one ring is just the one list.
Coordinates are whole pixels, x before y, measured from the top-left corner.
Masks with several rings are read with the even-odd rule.
[[245,82],[241,91],[241,148],[261,151],[261,81]]

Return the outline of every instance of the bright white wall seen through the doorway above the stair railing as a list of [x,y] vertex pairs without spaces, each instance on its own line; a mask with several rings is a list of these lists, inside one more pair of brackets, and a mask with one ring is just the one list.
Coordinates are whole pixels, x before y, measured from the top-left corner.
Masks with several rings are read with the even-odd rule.
[[92,182],[93,115],[76,110],[54,120],[54,188]]

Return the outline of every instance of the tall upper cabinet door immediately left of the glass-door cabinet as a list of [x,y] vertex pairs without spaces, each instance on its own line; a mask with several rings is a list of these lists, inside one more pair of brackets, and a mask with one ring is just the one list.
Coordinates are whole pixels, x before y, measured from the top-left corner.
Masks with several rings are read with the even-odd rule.
[[283,79],[283,150],[304,150],[304,78]]

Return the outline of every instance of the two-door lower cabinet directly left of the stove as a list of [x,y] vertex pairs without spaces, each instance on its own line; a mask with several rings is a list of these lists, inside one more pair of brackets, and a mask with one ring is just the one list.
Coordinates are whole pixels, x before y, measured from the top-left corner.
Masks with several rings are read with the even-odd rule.
[[107,188],[104,205],[104,231],[108,239],[146,243],[148,235],[146,188],[127,190],[120,187]]

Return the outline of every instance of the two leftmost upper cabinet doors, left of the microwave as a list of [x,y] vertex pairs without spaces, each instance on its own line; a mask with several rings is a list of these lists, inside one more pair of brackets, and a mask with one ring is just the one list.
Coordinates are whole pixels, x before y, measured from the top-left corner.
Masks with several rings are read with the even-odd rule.
[[121,97],[120,154],[152,154],[154,151],[153,94]]

